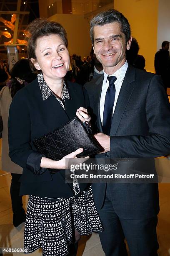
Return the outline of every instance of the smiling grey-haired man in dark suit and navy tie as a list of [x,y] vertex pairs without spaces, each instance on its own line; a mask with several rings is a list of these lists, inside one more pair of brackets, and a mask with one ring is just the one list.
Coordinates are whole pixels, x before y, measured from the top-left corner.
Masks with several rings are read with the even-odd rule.
[[[95,138],[105,149],[96,157],[130,160],[169,154],[168,98],[159,76],[128,65],[128,20],[116,10],[99,13],[90,21],[90,36],[104,70],[104,76],[85,84],[100,132]],[[151,167],[153,173],[154,163]],[[124,238],[131,256],[158,255],[158,184],[92,185],[105,255],[127,256]]]

